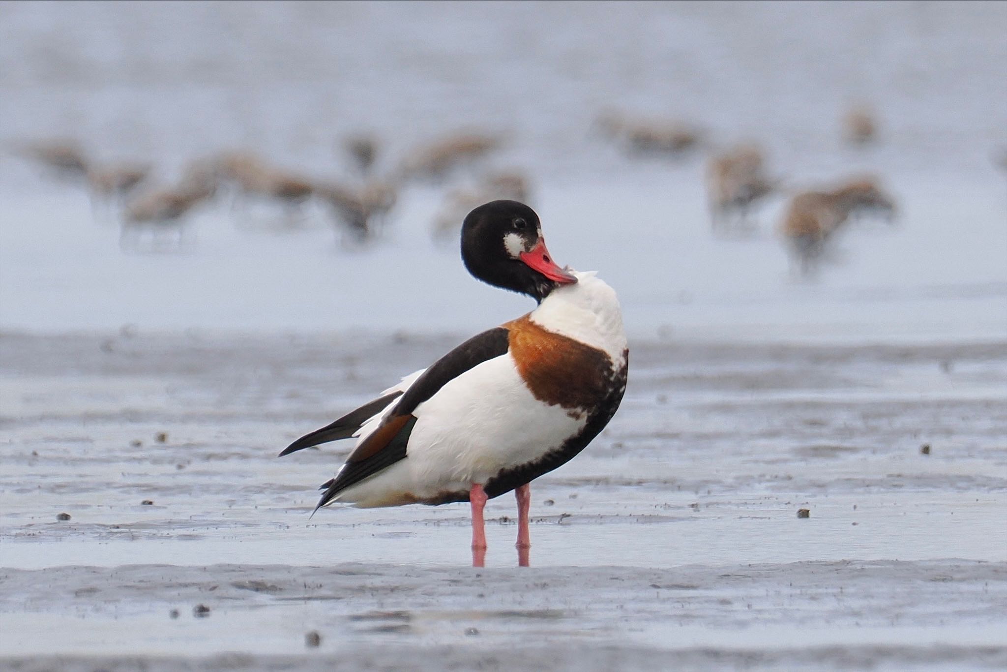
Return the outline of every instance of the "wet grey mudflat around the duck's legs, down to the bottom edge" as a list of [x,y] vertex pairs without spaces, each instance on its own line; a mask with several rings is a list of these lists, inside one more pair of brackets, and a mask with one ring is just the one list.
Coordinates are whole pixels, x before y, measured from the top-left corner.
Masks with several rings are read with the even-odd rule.
[[485,569],[464,505],[309,518],[348,446],[276,453],[460,340],[0,335],[0,666],[1007,664],[1007,344],[634,342],[530,569],[510,496]]

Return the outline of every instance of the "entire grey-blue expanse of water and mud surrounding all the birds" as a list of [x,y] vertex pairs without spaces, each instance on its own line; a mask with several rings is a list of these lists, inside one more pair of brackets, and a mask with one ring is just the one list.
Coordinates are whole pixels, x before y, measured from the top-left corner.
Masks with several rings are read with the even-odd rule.
[[[629,154],[611,112],[704,143]],[[358,184],[350,135],[386,176],[459,130],[502,144],[366,246],[228,188],[124,246],[25,156],[147,162],[139,198],[229,150]],[[739,141],[783,188],[714,235]],[[1007,668],[1005,148],[1007,3],[0,3],[0,668]],[[632,352],[533,484],[531,569],[510,496],[473,570],[466,505],[312,518],[347,442],[276,456],[533,307],[432,240],[492,170]],[[794,273],[787,200],[865,171],[893,226]]]

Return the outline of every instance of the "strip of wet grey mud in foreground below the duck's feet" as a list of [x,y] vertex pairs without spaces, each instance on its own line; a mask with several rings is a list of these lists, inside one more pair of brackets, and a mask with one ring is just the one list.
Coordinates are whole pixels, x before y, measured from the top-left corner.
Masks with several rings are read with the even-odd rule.
[[[6,625],[13,623],[11,585],[31,616],[8,631],[8,655],[0,662],[24,670],[515,663],[593,670],[660,661],[700,668],[950,669],[1007,660],[1007,645],[992,625],[1007,613],[1004,562],[3,570]],[[64,615],[55,619],[60,636],[50,642],[49,656],[19,656],[51,627],[38,618],[45,614]],[[246,631],[263,622],[268,629],[254,637]],[[70,624],[73,632],[65,630]],[[318,633],[317,647],[305,644],[306,633]],[[142,660],[133,653],[137,642],[148,649]],[[186,654],[179,655],[183,642]],[[243,653],[221,653],[229,650]]]

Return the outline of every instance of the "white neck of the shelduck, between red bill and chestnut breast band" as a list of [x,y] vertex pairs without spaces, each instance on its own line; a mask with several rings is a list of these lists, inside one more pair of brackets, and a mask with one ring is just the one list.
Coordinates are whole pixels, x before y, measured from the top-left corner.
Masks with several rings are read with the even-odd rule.
[[577,283],[560,285],[549,293],[530,318],[550,331],[604,351],[618,367],[626,348],[622,311],[615,291],[594,271],[574,272]]

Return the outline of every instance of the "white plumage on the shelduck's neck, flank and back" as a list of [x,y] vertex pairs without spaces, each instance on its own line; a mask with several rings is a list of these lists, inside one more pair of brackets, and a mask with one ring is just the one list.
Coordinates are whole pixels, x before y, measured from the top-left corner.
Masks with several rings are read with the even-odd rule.
[[[615,292],[593,272],[575,275],[577,283],[557,287],[529,319],[601,351],[613,370],[624,369],[626,337]],[[422,373],[408,376],[386,393],[407,390]],[[395,404],[361,427],[357,445]],[[333,501],[381,507],[467,492],[472,484],[485,484],[506,469],[535,462],[587,423],[583,414],[536,398],[511,352],[448,381],[412,414],[417,420],[406,459],[346,488]]]

